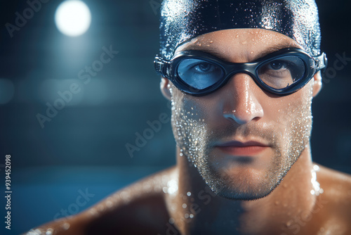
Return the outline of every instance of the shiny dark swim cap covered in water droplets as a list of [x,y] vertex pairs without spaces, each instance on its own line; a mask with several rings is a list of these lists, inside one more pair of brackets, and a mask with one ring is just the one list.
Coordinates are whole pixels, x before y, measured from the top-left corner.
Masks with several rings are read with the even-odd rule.
[[170,60],[176,48],[201,34],[260,28],[294,39],[310,56],[319,55],[321,33],[314,0],[164,0],[160,55]]

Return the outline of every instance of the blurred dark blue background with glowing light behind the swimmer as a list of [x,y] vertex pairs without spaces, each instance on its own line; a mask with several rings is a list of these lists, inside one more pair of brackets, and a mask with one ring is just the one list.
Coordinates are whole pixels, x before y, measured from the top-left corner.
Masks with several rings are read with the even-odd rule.
[[[11,231],[1,222],[0,234],[80,212],[176,163],[170,122],[138,140],[171,115],[153,67],[160,2],[0,2],[0,195],[7,154],[13,191]],[[351,58],[351,2],[317,4],[329,70],[312,106],[313,160],[351,173],[351,59],[340,61]]]

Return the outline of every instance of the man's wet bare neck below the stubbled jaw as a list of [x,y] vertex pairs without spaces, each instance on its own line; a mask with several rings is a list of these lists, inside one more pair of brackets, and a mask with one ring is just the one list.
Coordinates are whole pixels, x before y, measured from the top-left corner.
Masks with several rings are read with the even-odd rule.
[[171,222],[182,234],[280,234],[282,227],[289,227],[289,218],[312,210],[315,204],[309,146],[282,183],[268,196],[255,201],[217,196],[177,151],[178,191],[168,196],[167,204]]

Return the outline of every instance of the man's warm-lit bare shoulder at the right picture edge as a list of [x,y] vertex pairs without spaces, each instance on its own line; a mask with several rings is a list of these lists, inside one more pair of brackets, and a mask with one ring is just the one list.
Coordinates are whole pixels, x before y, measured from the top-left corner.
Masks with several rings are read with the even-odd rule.
[[351,234],[351,175],[320,166],[317,181],[326,221],[334,224],[336,234]]

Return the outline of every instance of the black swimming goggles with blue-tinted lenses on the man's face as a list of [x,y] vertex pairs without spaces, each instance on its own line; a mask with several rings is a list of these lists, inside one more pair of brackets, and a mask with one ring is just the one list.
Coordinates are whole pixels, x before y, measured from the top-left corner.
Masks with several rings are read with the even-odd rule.
[[211,94],[239,72],[250,75],[261,89],[284,96],[304,87],[326,64],[325,53],[311,57],[297,48],[281,49],[249,63],[230,63],[204,51],[180,51],[171,61],[158,56],[154,61],[157,72],[193,96]]

